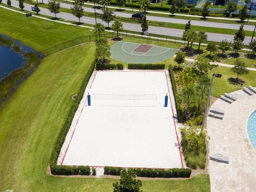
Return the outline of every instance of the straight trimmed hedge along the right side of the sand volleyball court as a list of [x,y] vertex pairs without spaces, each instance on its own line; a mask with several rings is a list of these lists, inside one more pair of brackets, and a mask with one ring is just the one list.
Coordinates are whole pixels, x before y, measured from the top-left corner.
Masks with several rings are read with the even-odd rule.
[[169,65],[169,74],[170,74],[170,78],[171,78],[171,82],[172,82],[172,92],[173,92],[174,99],[175,99],[178,121],[181,123],[182,122],[182,110],[181,110],[181,107],[180,107],[180,98],[179,98],[179,94],[178,94],[177,89],[176,89],[176,82],[175,82],[175,79],[174,79],[173,70],[172,70],[171,65]]

